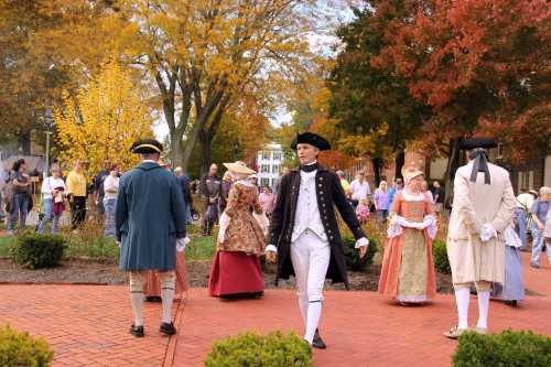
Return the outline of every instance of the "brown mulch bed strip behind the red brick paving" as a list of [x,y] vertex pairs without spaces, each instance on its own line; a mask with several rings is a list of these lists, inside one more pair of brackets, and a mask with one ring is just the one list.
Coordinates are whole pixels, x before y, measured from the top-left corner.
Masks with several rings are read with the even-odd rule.
[[[204,288],[208,283],[210,261],[187,260],[187,282],[192,288]],[[372,265],[365,272],[348,272],[350,290],[377,291],[380,266]],[[274,285],[276,266],[264,267],[266,288]],[[126,284],[127,274],[118,270],[117,263],[98,262],[95,260],[68,259],[60,267],[52,269],[29,270],[11,262],[10,259],[0,259],[0,283],[91,283],[91,284]],[[451,276],[436,274],[439,293],[453,292]],[[281,280],[279,288],[293,289],[294,279]],[[326,283],[326,289],[344,290],[343,284]]]

